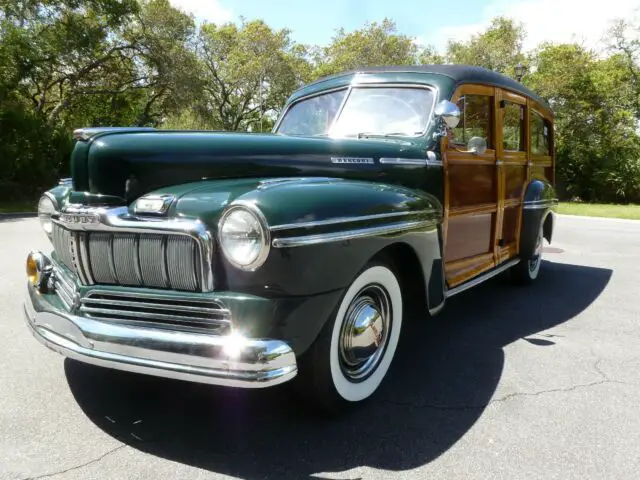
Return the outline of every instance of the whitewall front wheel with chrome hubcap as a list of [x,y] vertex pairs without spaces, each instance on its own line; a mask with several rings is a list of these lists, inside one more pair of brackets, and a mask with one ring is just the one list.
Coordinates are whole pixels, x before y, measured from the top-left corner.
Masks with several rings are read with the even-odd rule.
[[387,264],[367,266],[299,362],[299,383],[329,411],[369,398],[384,379],[402,328],[402,292]]

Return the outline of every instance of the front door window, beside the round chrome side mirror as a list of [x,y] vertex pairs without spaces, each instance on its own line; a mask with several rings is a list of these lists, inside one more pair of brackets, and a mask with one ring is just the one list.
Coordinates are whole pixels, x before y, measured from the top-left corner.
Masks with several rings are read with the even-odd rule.
[[491,105],[493,98],[486,95],[465,95],[458,100],[460,109],[460,123],[453,129],[450,141],[456,145],[466,145],[471,137],[482,137],[487,142],[488,148],[494,148],[491,144]]

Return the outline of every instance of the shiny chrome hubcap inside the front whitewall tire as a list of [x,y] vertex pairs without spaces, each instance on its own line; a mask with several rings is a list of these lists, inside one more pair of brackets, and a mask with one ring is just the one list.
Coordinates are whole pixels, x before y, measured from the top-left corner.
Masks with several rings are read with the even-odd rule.
[[359,382],[378,367],[391,329],[391,301],[379,285],[368,285],[354,297],[340,332],[340,368]]

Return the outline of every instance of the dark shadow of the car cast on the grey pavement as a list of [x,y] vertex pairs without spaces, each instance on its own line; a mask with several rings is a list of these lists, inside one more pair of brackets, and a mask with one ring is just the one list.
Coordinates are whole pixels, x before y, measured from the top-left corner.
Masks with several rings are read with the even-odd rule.
[[538,283],[495,279],[452,298],[433,321],[407,322],[387,379],[361,408],[327,419],[287,385],[227,390],[65,361],[76,401],[133,448],[241,478],[323,478],[359,466],[402,471],[433,461],[480,418],[500,380],[503,347],[585,310],[611,270],[544,262]]

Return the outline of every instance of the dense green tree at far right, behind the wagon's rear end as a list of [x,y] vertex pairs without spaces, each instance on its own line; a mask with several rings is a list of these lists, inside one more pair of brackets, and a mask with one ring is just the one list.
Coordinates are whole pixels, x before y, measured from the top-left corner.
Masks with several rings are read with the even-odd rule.
[[577,44],[544,44],[532,58],[527,83],[554,110],[557,173],[566,194],[640,200],[640,139],[624,59],[600,59]]

